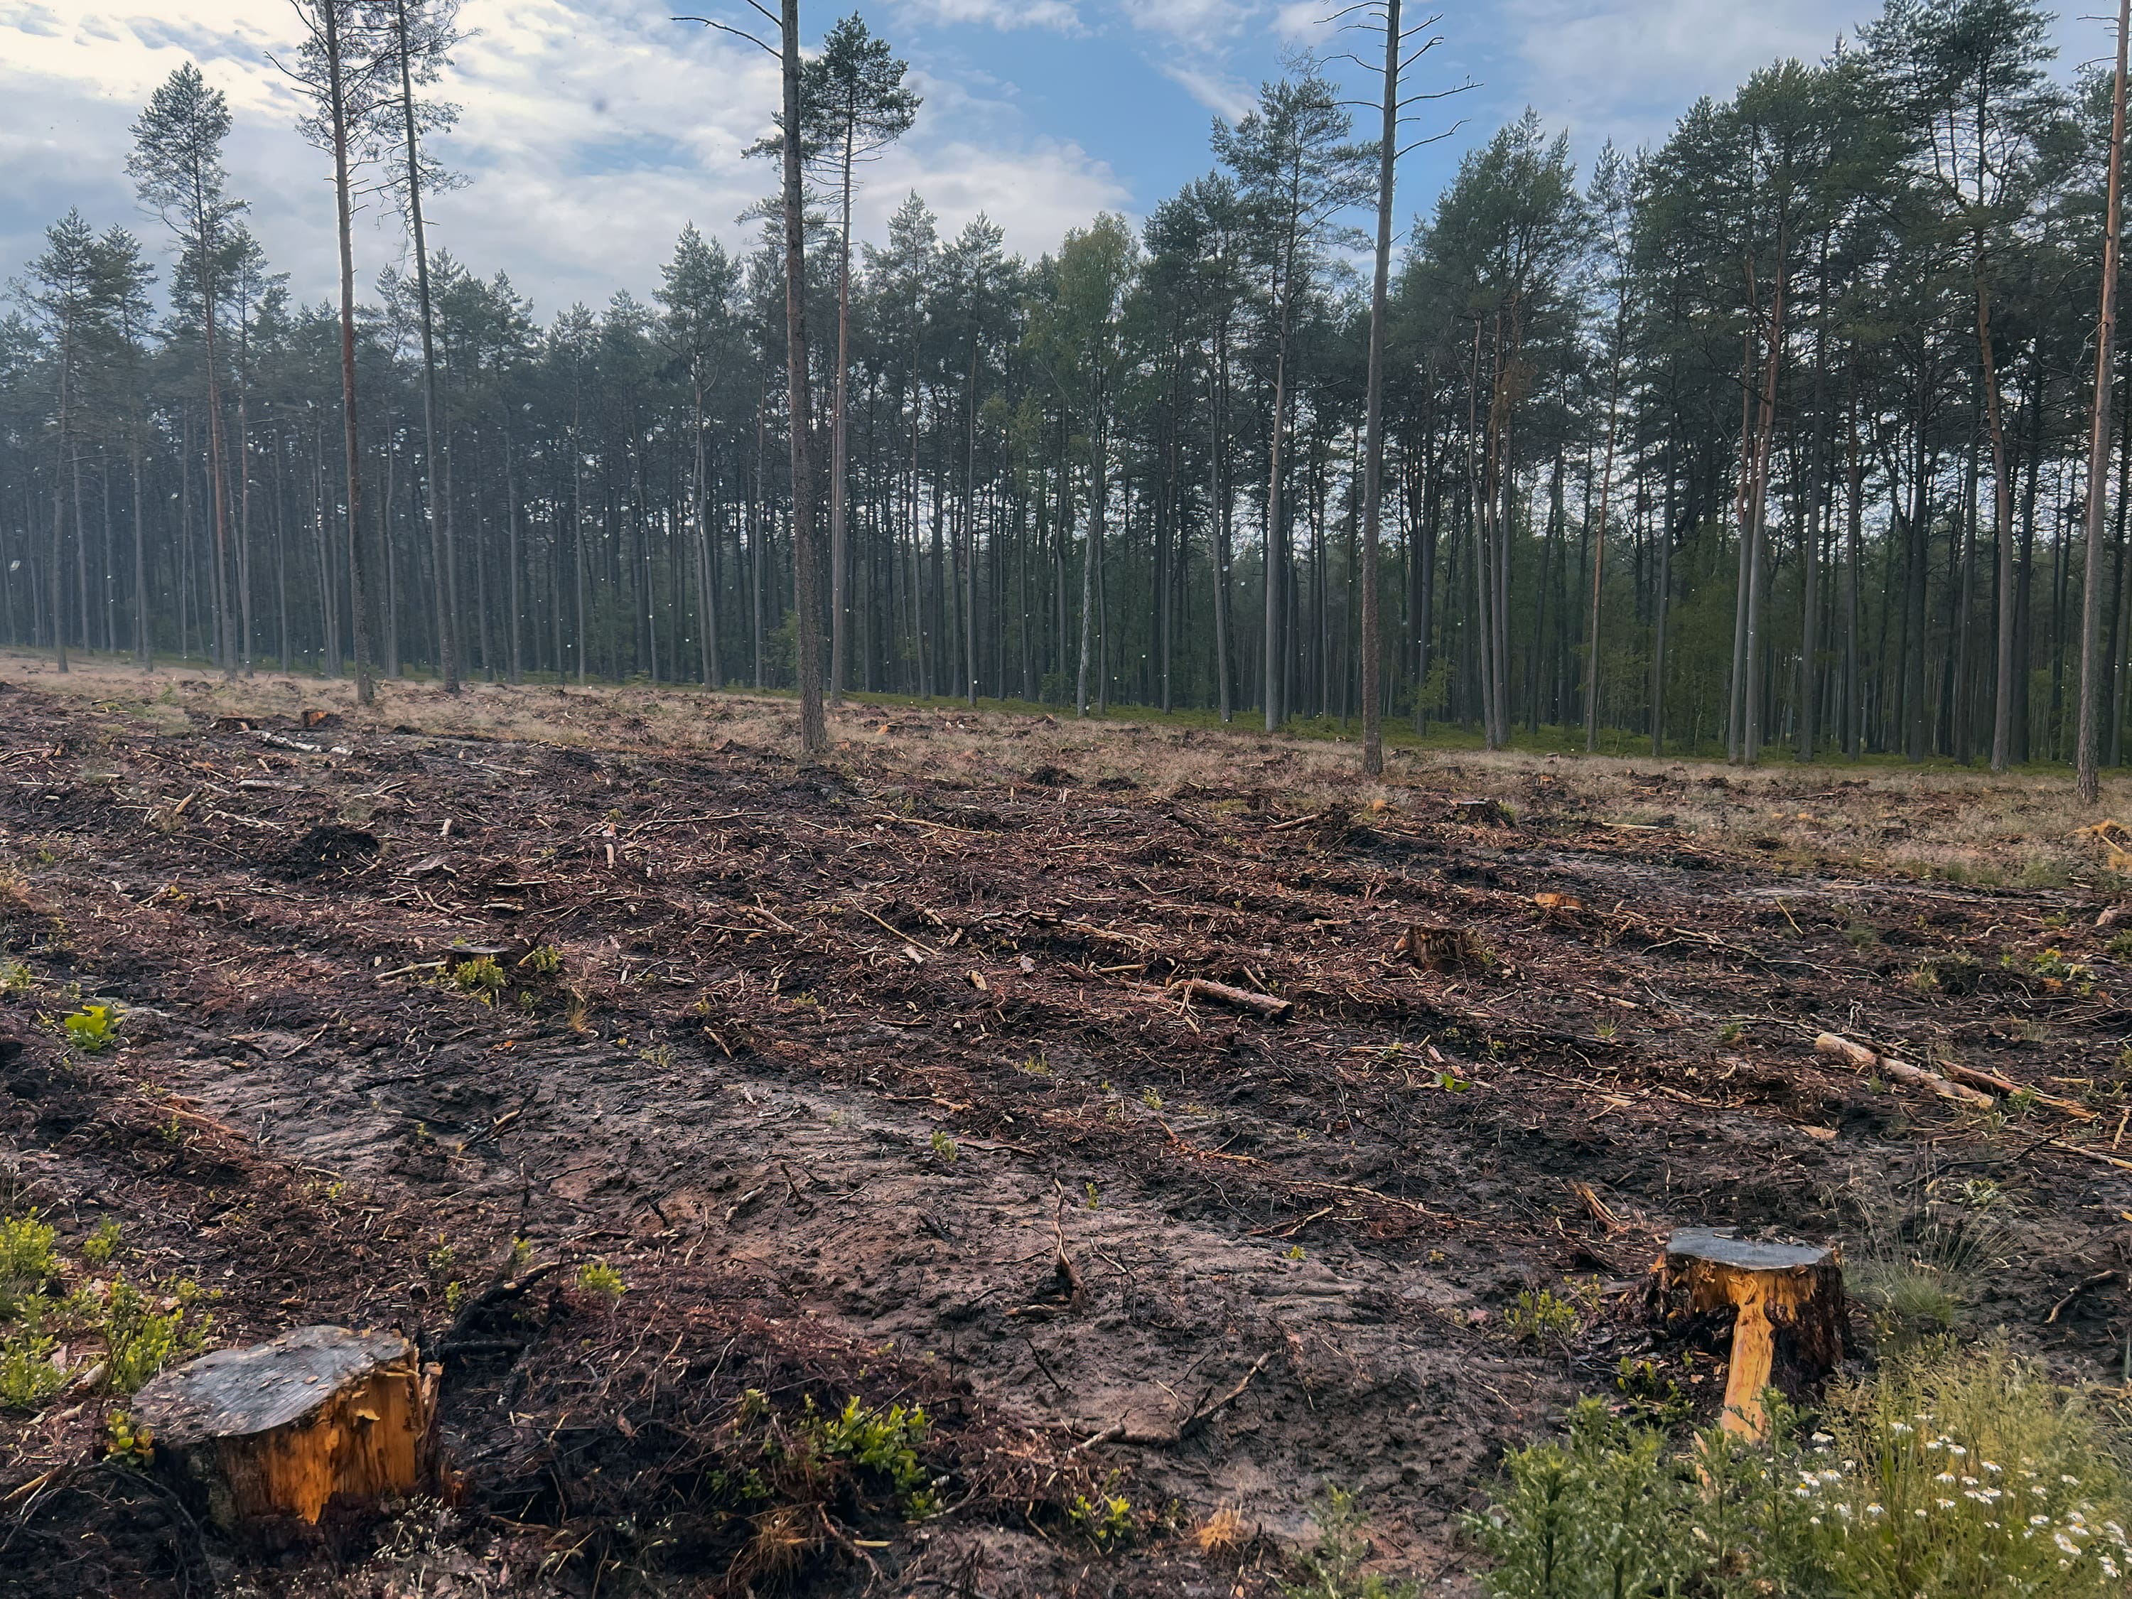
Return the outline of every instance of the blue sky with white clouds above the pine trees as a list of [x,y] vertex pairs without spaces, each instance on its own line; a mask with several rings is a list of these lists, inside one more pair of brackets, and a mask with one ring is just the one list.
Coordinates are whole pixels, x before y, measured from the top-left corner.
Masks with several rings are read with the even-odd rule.
[[[1318,21],[1341,0],[806,0],[819,34],[846,9],[910,60],[917,130],[868,175],[861,237],[919,190],[953,230],[979,211],[1036,254],[1100,209],[1143,217],[1207,171],[1215,113],[1249,104],[1283,51],[1352,49]],[[1409,15],[1411,15],[1409,0]],[[723,11],[721,11],[723,9]],[[1725,94],[1778,55],[1814,58],[1868,0],[1467,0],[1445,4],[1422,85],[1480,87],[1443,109],[1460,132],[1401,168],[1403,213],[1426,209],[1458,154],[1533,104],[1580,154],[1601,139],[1663,139],[1703,92]],[[740,243],[736,217],[772,185],[740,151],[765,128],[774,64],[674,11],[746,17],[742,0],[465,0],[473,34],[448,98],[463,109],[439,154],[467,185],[431,207],[433,239],[469,266],[505,269],[552,313],[646,294],[684,222]],[[1422,13],[1426,15],[1426,13]],[[128,124],[192,58],[237,115],[232,192],[305,298],[333,284],[333,198],[294,132],[273,66],[296,36],[288,0],[0,0],[0,279],[68,205],[126,222],[158,249],[124,177]],[[2066,66],[2102,51],[2102,26],[2060,26]],[[371,281],[401,256],[390,222],[358,228]]]

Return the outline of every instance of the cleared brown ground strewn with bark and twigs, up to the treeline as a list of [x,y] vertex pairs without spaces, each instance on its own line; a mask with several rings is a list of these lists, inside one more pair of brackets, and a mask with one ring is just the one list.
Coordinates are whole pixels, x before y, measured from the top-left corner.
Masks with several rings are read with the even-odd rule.
[[83,1469],[124,1399],[62,1392],[0,1418],[0,1590],[1273,1595],[1345,1488],[1471,1593],[1573,1396],[1714,1414],[1646,1311],[1686,1224],[2119,1379],[2132,936],[2077,829],[2132,785],[795,721],[0,657],[6,1209],[220,1341],[420,1335],[456,1471],[269,1556]]

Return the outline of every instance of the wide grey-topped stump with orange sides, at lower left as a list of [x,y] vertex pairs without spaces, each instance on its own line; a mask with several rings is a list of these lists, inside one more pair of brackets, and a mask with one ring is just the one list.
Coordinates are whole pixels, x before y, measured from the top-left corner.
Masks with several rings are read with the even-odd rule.
[[215,1350],[134,1399],[156,1469],[224,1529],[418,1492],[437,1473],[437,1375],[399,1332],[298,1326]]

